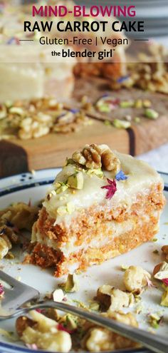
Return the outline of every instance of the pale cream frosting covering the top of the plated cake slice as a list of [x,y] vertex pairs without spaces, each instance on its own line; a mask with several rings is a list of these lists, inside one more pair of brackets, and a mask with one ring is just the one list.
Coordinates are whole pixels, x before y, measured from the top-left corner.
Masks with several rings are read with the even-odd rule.
[[[65,227],[68,227],[72,218],[78,217],[81,210],[90,208],[92,205],[107,205],[110,209],[121,206],[129,210],[132,203],[135,202],[137,194],[145,195],[149,192],[153,184],[162,183],[160,175],[149,167],[147,163],[142,160],[136,160],[130,155],[117,152],[115,154],[120,159],[121,170],[128,178],[127,180],[117,181],[117,191],[112,199],[107,200],[105,198],[107,190],[101,188],[107,185],[107,178],[111,180],[114,178],[111,172],[105,171],[103,179],[83,172],[84,185],[82,190],[75,190],[75,193],[73,193],[72,189],[68,188],[63,193],[52,195],[50,200],[46,198],[44,201],[43,206],[46,208],[48,215],[56,220],[55,225],[63,223]],[[61,173],[57,175],[55,182],[51,186],[51,190],[56,190],[56,182],[65,183],[68,176],[74,172],[75,167],[73,165],[64,167]],[[58,208],[66,208],[68,203],[74,209],[73,213],[58,215]]]

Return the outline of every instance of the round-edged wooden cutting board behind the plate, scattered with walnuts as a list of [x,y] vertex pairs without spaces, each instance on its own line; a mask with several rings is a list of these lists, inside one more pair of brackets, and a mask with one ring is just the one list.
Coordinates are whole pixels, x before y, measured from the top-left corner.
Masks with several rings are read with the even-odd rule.
[[137,155],[168,141],[168,100],[167,96],[160,93],[146,93],[135,89],[112,92],[108,91],[105,80],[80,79],[76,81],[74,96],[68,105],[75,108],[78,106],[78,99],[84,94],[94,101],[105,92],[122,100],[140,97],[150,99],[152,106],[159,111],[159,118],[156,121],[141,118],[140,124],[132,123],[131,128],[127,130],[105,125],[107,119],[111,121],[123,113],[137,116],[136,110],[128,108],[125,112],[116,110],[110,116],[93,114],[96,115],[96,118],[93,118],[93,125],[84,126],[75,133],[50,134],[33,140],[1,140],[0,177],[61,166],[67,156],[72,155],[74,150],[82,148],[86,143],[105,143],[122,153]]

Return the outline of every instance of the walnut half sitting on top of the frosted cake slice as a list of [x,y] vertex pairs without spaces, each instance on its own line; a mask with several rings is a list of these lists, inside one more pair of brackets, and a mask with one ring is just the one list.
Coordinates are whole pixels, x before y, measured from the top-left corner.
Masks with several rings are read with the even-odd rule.
[[72,158],[75,163],[85,165],[88,169],[103,167],[115,174],[120,171],[120,160],[107,145],[85,145],[82,151],[75,151]]

